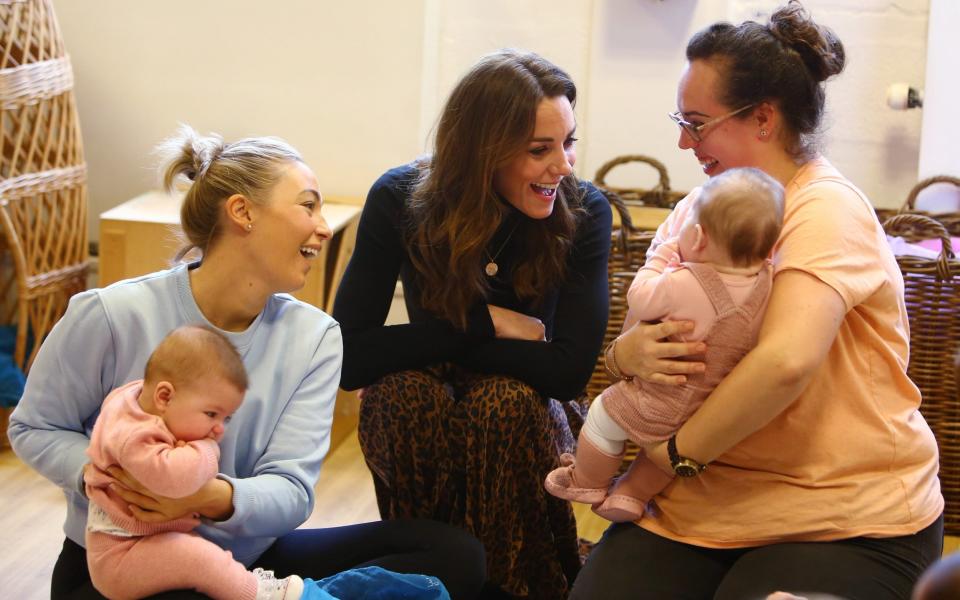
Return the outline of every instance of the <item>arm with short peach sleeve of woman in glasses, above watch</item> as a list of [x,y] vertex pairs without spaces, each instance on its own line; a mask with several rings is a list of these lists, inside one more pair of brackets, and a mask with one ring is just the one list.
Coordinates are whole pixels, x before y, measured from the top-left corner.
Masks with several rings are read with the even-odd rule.
[[[869,202],[849,182],[833,178],[788,191],[757,346],[681,427],[681,455],[716,459],[802,394],[848,311],[889,285],[880,260],[885,246]],[[652,457],[661,467],[667,462],[663,448]]]

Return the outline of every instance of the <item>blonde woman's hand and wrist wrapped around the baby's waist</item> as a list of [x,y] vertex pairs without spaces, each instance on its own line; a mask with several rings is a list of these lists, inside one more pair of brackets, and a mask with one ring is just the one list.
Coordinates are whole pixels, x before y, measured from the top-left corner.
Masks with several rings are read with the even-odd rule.
[[112,484],[113,491],[129,504],[133,516],[146,523],[162,523],[196,513],[222,521],[233,514],[233,486],[222,479],[211,479],[189,496],[168,498],[151,492],[120,467],[110,467],[107,472],[118,482]]

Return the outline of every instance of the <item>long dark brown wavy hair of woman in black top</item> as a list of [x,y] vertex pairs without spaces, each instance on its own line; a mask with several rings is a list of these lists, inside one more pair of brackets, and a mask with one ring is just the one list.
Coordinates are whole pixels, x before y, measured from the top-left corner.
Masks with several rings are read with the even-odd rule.
[[[491,237],[511,206],[493,187],[494,172],[525,152],[541,100],[577,89],[546,59],[515,50],[485,56],[460,80],[440,115],[433,154],[420,164],[407,224],[410,259],[428,310],[466,328],[467,312],[489,287],[481,270]],[[540,300],[565,275],[582,213],[576,178],[564,177],[553,213],[523,219],[513,286],[520,298]]]

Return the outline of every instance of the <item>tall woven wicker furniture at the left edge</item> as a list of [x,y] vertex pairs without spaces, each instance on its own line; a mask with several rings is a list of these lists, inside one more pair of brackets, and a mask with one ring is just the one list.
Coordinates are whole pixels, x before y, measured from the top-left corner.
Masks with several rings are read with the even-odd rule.
[[27,370],[86,285],[87,172],[52,3],[0,2],[0,23],[0,317]]

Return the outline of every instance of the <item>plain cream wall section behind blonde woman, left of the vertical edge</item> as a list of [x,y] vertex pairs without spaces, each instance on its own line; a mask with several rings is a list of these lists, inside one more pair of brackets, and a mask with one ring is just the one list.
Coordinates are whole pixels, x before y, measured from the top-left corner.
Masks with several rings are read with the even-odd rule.
[[54,0],[75,74],[91,238],[157,185],[179,122],[278,135],[330,195],[363,194],[422,149],[422,2]]

